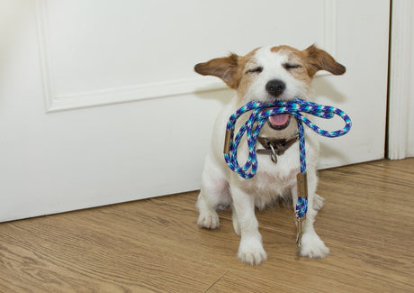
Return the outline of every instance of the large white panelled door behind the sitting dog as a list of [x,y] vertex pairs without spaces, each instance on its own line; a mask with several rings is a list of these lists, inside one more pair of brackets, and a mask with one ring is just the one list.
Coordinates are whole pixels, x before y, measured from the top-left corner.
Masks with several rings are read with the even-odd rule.
[[233,94],[193,65],[230,50],[328,50],[347,73],[317,78],[315,95],[350,114],[354,128],[321,138],[320,167],[383,158],[389,7],[2,1],[0,221],[199,188],[214,117]]

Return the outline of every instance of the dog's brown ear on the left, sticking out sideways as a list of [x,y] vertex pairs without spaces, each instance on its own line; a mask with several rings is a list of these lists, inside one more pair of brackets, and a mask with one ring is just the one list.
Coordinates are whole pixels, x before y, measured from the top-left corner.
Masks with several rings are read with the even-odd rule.
[[194,71],[203,76],[221,78],[230,88],[238,88],[238,55],[216,58],[194,66]]

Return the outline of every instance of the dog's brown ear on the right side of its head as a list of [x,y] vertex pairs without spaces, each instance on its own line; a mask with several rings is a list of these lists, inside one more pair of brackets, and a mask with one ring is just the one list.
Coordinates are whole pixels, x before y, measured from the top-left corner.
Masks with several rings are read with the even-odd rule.
[[305,60],[308,63],[308,74],[311,78],[319,70],[327,70],[332,74],[341,75],[344,74],[345,66],[339,64],[332,56],[324,50],[320,50],[315,45],[311,45],[304,53]]

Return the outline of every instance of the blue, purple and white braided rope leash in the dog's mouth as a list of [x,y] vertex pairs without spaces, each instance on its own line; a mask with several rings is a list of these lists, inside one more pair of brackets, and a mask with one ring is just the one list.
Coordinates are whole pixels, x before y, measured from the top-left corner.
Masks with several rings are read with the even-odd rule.
[[[236,136],[234,136],[238,118],[249,111],[252,111],[250,117],[247,122],[239,128]],[[226,160],[229,169],[237,172],[240,177],[251,179],[256,175],[257,137],[263,125],[266,124],[267,118],[275,114],[292,114],[296,118],[298,124],[301,173],[297,175],[298,202],[295,208],[295,219],[297,222],[296,244],[299,248],[302,239],[302,221],[306,218],[306,213],[308,211],[308,184],[306,177],[305,133],[303,124],[306,124],[311,130],[322,136],[338,137],[348,133],[352,123],[349,116],[337,107],[319,105],[302,100],[301,98],[295,98],[292,101],[276,101],[275,103],[249,102],[229,117],[224,142],[224,159]],[[329,132],[321,129],[318,125],[311,123],[311,121],[303,114],[312,114],[325,119],[333,118],[334,115],[337,114],[344,120],[345,126],[340,130]],[[245,133],[248,145],[248,158],[247,162],[243,166],[240,166],[237,158],[238,145]]]

